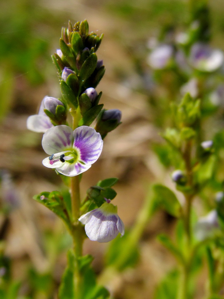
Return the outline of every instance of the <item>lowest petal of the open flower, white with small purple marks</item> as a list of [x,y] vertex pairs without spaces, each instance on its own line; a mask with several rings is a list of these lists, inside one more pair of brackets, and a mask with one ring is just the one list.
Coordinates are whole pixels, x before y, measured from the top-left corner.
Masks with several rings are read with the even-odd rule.
[[84,165],[79,162],[69,163],[65,161],[59,168],[56,168],[56,170],[64,176],[78,176],[80,173],[85,172],[90,167],[91,165]]

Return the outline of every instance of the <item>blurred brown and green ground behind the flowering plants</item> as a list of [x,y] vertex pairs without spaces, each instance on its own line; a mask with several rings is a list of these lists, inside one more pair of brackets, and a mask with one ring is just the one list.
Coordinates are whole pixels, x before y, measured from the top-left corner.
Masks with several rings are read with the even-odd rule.
[[[86,240],[85,253],[95,258],[93,266],[99,281],[107,285],[114,298],[153,298],[155,289],[156,298],[163,298],[164,290],[169,290],[172,297],[177,284],[177,272],[171,271],[174,259],[155,236],[174,234],[175,219],[159,211],[150,223],[147,220],[154,210],[149,200],[149,184],[162,182],[174,189],[170,173],[175,156],[159,136],[170,122],[164,100],[167,94],[163,89],[156,90],[161,94],[161,101],[154,102],[151,91],[154,79],[159,77],[152,78],[146,59],[149,39],[162,40],[168,30],[178,33],[186,28],[191,19],[188,5],[189,1],[182,0],[1,1],[0,298],[56,298],[66,251],[71,244],[60,220],[32,199],[43,190],[58,189],[61,182],[42,166],[45,156],[40,145],[42,135],[26,129],[28,115],[37,111],[42,98],[59,96],[50,55],[59,48],[61,27],[66,27],[69,19],[72,23],[87,19],[90,31],[105,34],[98,58],[103,59],[106,73],[97,91],[103,91],[102,102],[106,109],[119,108],[123,114],[122,125],[105,139],[102,157],[85,174],[82,187],[86,190],[99,179],[110,176],[119,178],[115,203],[127,229],[124,239],[130,238],[133,245],[130,260],[125,256],[116,259],[116,246],[122,248],[124,239],[109,244],[112,249],[107,254],[108,244]],[[224,50],[222,6],[222,0],[209,1],[211,44]],[[169,76],[167,84],[172,80]],[[182,80],[179,86],[186,82],[185,78]],[[215,110],[211,107],[208,114]],[[219,119],[220,128],[222,109]],[[217,134],[215,142],[223,157],[223,132]],[[212,184],[212,189],[218,191],[220,184],[215,180]],[[205,198],[210,194],[211,191],[204,194]],[[145,198],[147,212],[138,214]],[[201,205],[197,208],[202,215],[204,208]],[[136,237],[139,232],[128,233],[135,219],[141,229],[140,242]],[[102,273],[103,265],[110,268],[113,261],[118,269],[126,271],[114,273],[112,277],[108,272],[107,277],[107,273]],[[200,257],[198,263],[201,263]],[[135,268],[131,268],[133,264]],[[168,276],[156,287],[167,272]],[[173,289],[169,289],[171,282]],[[203,275],[197,283],[196,298],[203,298]]]

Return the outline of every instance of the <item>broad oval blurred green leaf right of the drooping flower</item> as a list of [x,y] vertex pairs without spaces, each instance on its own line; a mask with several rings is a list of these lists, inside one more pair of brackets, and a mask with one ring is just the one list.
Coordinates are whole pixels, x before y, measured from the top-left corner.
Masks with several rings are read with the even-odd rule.
[[155,193],[155,201],[158,201],[160,206],[164,208],[170,215],[179,217],[181,205],[176,195],[169,188],[156,184],[153,186]]

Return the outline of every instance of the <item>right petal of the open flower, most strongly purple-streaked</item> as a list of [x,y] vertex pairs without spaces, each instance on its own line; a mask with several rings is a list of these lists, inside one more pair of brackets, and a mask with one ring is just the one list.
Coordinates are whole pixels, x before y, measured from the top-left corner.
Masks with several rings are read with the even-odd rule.
[[101,135],[91,127],[81,126],[74,130],[73,136],[73,147],[79,150],[80,161],[86,165],[96,162],[103,148]]

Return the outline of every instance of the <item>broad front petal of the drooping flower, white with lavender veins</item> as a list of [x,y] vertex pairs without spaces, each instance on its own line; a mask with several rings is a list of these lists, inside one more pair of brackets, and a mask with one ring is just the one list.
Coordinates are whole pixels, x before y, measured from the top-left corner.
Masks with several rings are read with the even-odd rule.
[[95,211],[85,224],[85,232],[92,241],[109,242],[119,233],[117,220],[115,214],[105,216],[101,211]]

